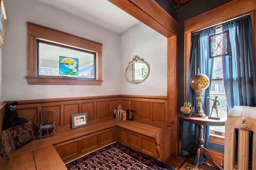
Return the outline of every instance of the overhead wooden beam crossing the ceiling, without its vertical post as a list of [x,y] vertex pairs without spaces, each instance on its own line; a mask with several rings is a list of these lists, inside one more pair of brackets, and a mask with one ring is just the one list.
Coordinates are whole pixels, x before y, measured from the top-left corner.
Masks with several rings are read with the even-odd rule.
[[134,16],[165,37],[178,35],[178,22],[175,21],[154,0],[108,0],[128,14]]

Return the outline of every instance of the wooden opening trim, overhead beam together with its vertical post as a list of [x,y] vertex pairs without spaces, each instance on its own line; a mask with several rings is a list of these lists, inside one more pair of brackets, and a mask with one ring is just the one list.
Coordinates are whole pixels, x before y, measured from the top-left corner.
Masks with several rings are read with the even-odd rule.
[[174,121],[172,128],[173,152],[178,152],[177,132],[177,105],[178,105],[178,82],[177,82],[177,35],[178,23],[159,6],[154,0],[108,0],[128,14],[134,16],[158,33],[167,37],[167,111],[166,119]]

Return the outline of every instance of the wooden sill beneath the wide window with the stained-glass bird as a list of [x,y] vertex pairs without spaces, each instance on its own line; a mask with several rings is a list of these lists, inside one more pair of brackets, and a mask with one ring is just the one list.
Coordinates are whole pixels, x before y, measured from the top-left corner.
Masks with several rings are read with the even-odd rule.
[[59,77],[28,77],[28,84],[58,84],[58,85],[102,85],[103,80],[85,80],[82,78],[59,78]]

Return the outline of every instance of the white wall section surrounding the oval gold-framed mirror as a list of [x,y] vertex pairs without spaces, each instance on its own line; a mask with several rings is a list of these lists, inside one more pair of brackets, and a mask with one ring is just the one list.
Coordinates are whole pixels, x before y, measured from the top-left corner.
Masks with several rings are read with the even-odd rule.
[[121,77],[120,94],[167,96],[167,38],[144,23],[139,23],[121,35],[121,73],[134,55],[149,64],[148,78],[131,84]]

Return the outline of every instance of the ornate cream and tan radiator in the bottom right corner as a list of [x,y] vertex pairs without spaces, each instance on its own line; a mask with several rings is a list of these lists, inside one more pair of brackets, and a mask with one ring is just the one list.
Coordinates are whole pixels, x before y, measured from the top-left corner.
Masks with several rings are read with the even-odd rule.
[[224,170],[255,170],[256,107],[234,106],[225,123]]

